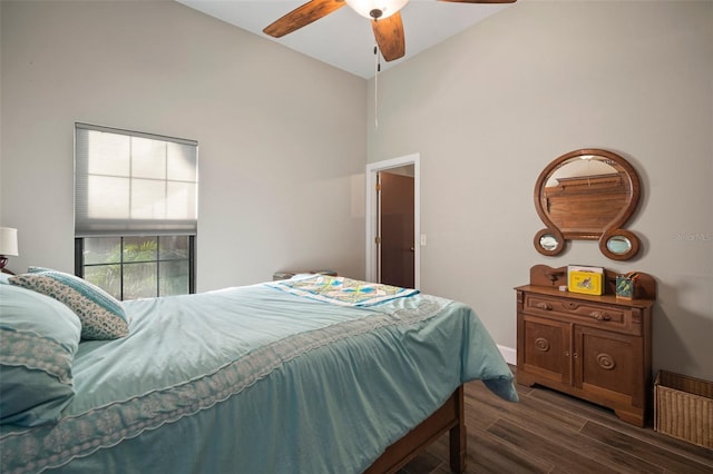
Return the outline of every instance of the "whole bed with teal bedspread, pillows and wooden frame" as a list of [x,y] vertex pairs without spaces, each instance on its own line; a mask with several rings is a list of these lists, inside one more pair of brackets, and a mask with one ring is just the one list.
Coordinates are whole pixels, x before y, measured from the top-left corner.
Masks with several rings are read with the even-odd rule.
[[[69,295],[69,296],[68,296]],[[517,401],[468,306],[302,275],[116,302],[50,269],[0,279],[0,472],[394,472],[462,384]]]

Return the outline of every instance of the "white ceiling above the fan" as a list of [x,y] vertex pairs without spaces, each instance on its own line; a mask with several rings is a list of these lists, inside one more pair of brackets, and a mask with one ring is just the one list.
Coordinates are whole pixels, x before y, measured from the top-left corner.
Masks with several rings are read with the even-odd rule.
[[[346,6],[293,33],[276,39],[263,33],[263,28],[305,3],[306,0],[177,1],[364,79],[375,75],[374,37],[371,24],[367,18],[359,16]],[[401,10],[406,56],[391,62],[381,60],[381,70],[412,58],[511,4],[410,0]]]

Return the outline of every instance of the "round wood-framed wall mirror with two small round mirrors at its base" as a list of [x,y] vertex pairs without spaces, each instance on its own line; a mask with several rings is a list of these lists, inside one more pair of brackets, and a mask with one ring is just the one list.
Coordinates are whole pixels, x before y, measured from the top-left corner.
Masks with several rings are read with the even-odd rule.
[[558,255],[566,240],[598,240],[614,260],[636,255],[638,237],[624,225],[638,205],[641,182],[634,167],[602,149],[570,151],[537,178],[535,208],[547,228],[535,235],[543,255]]

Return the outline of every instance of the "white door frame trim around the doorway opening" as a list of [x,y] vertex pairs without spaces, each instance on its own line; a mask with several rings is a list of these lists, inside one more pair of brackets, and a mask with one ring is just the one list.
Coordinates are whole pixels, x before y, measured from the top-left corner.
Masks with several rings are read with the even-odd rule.
[[379,228],[375,199],[377,175],[392,168],[413,165],[413,287],[421,287],[421,154],[411,154],[367,165],[367,280],[379,279],[379,253],[374,245]]

